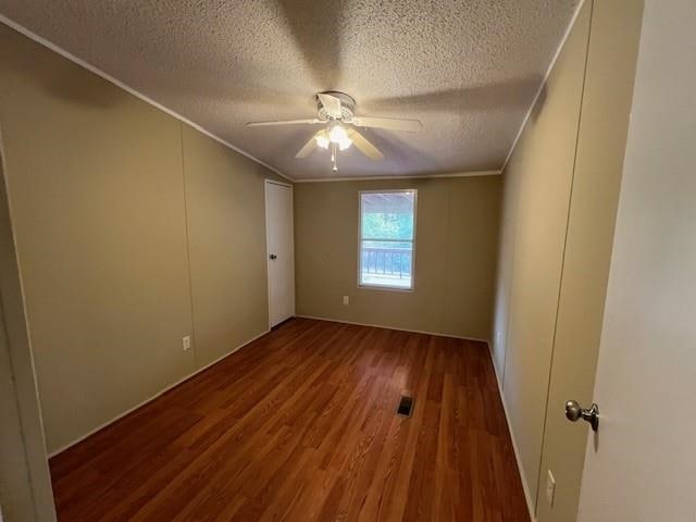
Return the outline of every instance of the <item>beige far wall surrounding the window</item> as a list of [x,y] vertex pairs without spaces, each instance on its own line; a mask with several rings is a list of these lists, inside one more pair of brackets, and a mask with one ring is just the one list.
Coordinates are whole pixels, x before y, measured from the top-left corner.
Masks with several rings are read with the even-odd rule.
[[[395,188],[418,189],[415,288],[358,288],[358,192]],[[499,176],[297,184],[297,313],[488,338],[499,197]]]

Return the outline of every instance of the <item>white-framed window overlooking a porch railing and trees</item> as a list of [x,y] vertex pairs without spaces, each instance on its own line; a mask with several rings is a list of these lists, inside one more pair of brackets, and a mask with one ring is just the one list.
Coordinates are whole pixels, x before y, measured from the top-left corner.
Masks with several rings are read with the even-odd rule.
[[360,192],[360,286],[413,288],[415,190]]

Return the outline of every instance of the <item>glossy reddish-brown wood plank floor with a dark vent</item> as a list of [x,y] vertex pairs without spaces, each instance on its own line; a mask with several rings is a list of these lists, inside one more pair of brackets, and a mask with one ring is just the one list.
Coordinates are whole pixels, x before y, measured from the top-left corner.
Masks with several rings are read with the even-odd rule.
[[61,521],[529,521],[483,343],[304,319],[50,465]]

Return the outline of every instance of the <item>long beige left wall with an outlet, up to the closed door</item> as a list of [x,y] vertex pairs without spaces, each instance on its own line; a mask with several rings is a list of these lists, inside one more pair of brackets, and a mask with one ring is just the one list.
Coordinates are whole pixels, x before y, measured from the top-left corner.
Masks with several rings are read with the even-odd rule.
[[0,54],[10,204],[53,451],[268,328],[269,173],[5,26]]

